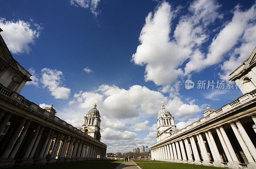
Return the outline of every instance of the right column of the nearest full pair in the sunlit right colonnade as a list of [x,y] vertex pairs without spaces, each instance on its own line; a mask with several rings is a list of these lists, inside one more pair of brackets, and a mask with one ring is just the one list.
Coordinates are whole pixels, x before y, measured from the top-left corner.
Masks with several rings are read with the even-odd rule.
[[239,129],[239,131],[240,131],[240,133],[242,135],[242,137],[244,138],[244,142],[247,145],[250,153],[252,154],[252,157],[256,160],[256,149],[255,149],[255,147],[254,147],[254,145],[252,143],[252,140],[250,139],[250,137],[248,136],[248,134],[244,130],[244,127],[241,124],[241,122],[236,120],[235,123],[236,123],[236,125],[237,125],[237,127],[238,127],[238,129]]

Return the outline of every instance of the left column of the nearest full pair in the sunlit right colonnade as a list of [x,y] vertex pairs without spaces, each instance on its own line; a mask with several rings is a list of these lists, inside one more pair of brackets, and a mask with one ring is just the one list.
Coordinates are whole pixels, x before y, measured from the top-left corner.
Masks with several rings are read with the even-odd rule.
[[246,146],[244,139],[242,138],[242,136],[240,135],[238,129],[236,128],[235,123],[230,123],[232,130],[234,131],[236,138],[238,140],[238,143],[240,144],[242,150],[244,151],[244,155],[248,160],[248,163],[254,163],[252,155],[248,149],[248,147]]

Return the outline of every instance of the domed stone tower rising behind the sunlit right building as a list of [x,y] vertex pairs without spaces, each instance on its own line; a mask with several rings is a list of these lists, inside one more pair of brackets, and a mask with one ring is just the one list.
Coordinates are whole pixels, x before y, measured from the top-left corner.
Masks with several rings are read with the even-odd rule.
[[164,104],[162,102],[162,109],[158,111],[157,116],[157,141],[160,141],[170,135],[173,132],[177,132],[176,125],[174,123],[174,117],[172,117],[171,113],[164,108]]

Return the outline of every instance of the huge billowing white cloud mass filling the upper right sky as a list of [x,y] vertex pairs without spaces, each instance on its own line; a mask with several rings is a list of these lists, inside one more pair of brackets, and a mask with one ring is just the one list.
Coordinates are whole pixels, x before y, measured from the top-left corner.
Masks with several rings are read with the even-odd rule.
[[[224,73],[220,76],[227,79],[255,46],[256,5],[245,11],[236,6],[230,11],[233,18],[212,30],[213,24],[226,19],[220,8],[215,0],[196,0],[181,15],[179,7],[174,9],[163,1],[149,12],[140,32],[140,45],[132,55],[135,64],[145,66],[145,81],[162,85],[162,92],[172,92],[186,75],[223,62],[224,56],[229,60],[222,64]],[[177,25],[173,25],[174,18],[179,20]]]

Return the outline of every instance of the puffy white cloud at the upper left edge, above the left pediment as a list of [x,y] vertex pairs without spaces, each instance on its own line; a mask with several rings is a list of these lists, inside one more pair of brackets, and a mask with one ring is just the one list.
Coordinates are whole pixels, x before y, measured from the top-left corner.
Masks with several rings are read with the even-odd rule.
[[29,53],[30,46],[39,37],[41,26],[23,20],[7,21],[0,18],[0,28],[3,30],[1,35],[14,54]]

